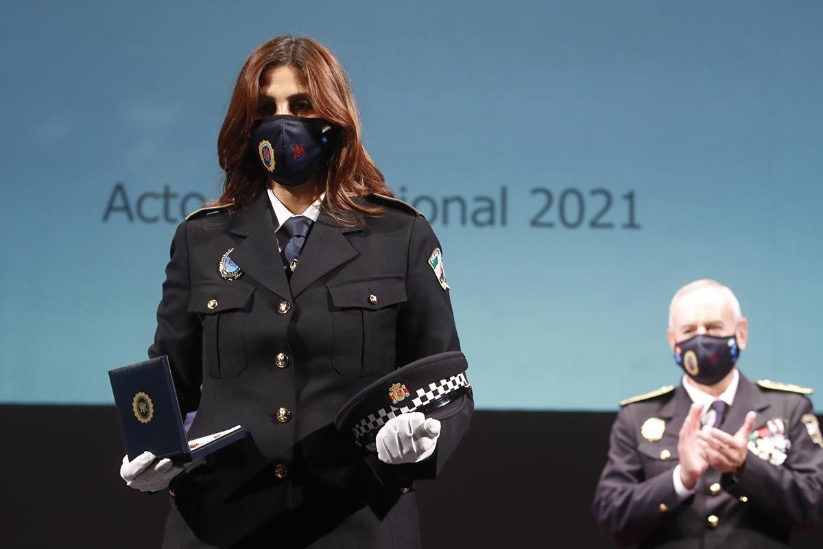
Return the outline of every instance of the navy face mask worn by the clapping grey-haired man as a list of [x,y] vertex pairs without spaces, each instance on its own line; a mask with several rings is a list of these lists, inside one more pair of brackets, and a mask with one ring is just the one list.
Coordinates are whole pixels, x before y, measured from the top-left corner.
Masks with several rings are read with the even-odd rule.
[[732,371],[740,358],[737,338],[695,336],[674,346],[674,360],[699,384],[714,385]]

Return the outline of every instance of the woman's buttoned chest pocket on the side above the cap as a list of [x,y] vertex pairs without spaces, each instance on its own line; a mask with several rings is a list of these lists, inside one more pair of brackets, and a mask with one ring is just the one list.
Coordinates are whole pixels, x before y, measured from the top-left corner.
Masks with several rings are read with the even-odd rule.
[[382,375],[394,368],[396,321],[406,277],[389,275],[328,286],[332,364],[340,375]]

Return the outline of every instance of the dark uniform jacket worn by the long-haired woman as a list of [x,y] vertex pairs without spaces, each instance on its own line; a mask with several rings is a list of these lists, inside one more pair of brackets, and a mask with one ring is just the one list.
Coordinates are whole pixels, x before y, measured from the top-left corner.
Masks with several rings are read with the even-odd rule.
[[[365,226],[322,211],[291,280],[267,193],[177,229],[150,356],[168,355],[195,438],[249,435],[175,478],[164,547],[419,547],[412,482],[435,477],[467,430],[463,396],[435,454],[387,465],[332,421],[370,381],[459,350],[425,218],[389,198]],[[243,274],[221,277],[227,250]],[[202,384],[202,393],[201,393]]]

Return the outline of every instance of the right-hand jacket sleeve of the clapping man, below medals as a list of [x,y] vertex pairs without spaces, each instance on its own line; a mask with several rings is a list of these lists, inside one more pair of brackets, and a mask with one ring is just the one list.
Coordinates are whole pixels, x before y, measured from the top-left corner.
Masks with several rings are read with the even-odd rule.
[[773,465],[751,452],[735,482],[723,475],[723,488],[732,495],[745,495],[753,505],[774,520],[793,528],[810,527],[823,519],[823,448],[815,444],[801,421],[813,414],[811,402],[802,398],[793,413],[788,440],[792,447],[783,465]]

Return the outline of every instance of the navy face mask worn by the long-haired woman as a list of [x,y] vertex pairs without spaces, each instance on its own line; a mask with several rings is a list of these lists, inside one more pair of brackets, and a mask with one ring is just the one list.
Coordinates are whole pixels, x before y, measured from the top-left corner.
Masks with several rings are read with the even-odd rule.
[[326,120],[277,114],[254,123],[251,147],[268,176],[291,187],[305,184],[328,160],[332,134]]

